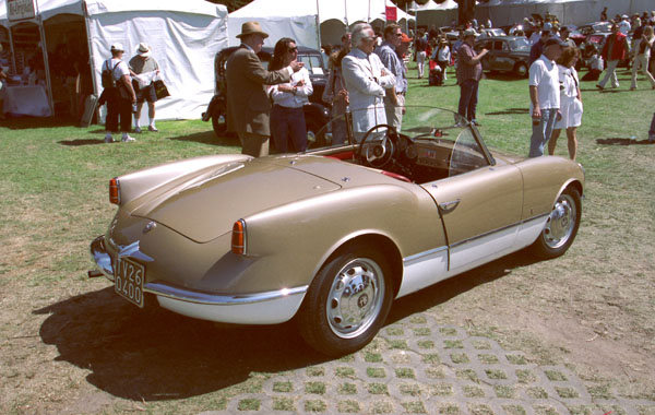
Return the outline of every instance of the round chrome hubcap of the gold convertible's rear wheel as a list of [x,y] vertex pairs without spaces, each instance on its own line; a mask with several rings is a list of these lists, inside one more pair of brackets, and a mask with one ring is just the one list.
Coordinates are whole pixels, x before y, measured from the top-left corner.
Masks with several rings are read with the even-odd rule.
[[336,274],[325,305],[332,332],[353,339],[376,321],[382,308],[384,278],[372,260],[355,259]]

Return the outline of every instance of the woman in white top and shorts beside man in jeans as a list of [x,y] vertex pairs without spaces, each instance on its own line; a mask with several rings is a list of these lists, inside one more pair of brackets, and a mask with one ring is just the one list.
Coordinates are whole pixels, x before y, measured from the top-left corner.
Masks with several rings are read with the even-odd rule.
[[567,130],[569,140],[569,157],[575,159],[577,153],[577,127],[582,123],[582,95],[580,94],[580,80],[575,71],[575,62],[580,58],[580,50],[568,47],[557,61],[560,78],[560,112],[561,118],[555,123],[552,134],[548,141],[548,154],[555,154],[557,139],[562,129]]

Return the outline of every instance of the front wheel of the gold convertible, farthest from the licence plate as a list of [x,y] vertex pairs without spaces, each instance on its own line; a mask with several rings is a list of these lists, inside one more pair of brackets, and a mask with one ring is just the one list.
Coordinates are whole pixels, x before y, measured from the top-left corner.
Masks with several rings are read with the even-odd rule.
[[557,198],[541,234],[531,247],[532,251],[541,259],[562,256],[577,235],[581,217],[580,193],[569,187]]

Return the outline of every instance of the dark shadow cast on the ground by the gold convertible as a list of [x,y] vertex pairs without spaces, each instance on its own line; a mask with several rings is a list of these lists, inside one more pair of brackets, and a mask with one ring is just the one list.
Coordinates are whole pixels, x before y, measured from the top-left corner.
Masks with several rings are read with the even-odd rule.
[[[519,252],[412,294],[394,303],[386,324],[531,263]],[[239,384],[252,372],[281,374],[330,359],[305,344],[294,321],[228,325],[142,310],[111,286],[33,312],[47,316],[39,335],[57,346],[56,360],[90,370],[86,379],[96,388],[139,402],[198,396]]]

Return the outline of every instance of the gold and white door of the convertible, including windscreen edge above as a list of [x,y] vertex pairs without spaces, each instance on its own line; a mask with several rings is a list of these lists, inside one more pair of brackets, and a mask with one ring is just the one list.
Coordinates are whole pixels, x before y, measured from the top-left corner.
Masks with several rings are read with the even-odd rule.
[[449,272],[508,252],[521,223],[523,179],[512,164],[492,164],[471,129],[450,156],[449,177],[421,185],[436,201],[449,246]]

